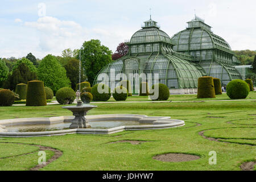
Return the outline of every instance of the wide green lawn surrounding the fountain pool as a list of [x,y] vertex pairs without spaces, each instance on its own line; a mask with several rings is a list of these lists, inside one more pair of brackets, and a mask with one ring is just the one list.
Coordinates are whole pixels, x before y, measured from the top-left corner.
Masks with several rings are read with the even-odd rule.
[[[256,99],[256,93],[251,92],[247,99]],[[169,100],[198,101],[196,95],[175,95]],[[207,100],[229,100],[229,98],[223,94]],[[148,100],[147,97],[133,96],[127,101]],[[0,170],[27,170],[36,166],[38,148],[15,144],[17,142],[49,146],[63,151],[59,159],[41,170],[240,170],[241,163],[255,160],[255,101],[106,102],[94,105],[98,107],[91,110],[89,115],[127,113],[170,116],[174,119],[183,119],[185,126],[164,130],[123,131],[112,135],[73,134],[38,138],[0,138]],[[60,115],[72,115],[72,113],[62,109],[61,105],[0,107],[0,119]],[[204,135],[207,137],[220,138],[222,142],[205,139],[199,135],[200,131],[205,131]],[[147,142],[137,145],[110,143],[118,140]],[[208,164],[210,151],[217,152],[216,165]],[[32,154],[20,155],[29,152]],[[155,155],[170,152],[195,154],[201,158],[181,163],[152,159]],[[52,156],[51,152],[47,152],[47,155]]]

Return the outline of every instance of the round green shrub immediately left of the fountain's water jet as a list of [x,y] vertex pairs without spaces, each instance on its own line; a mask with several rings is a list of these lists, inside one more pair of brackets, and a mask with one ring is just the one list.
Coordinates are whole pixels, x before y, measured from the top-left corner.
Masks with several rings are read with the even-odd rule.
[[72,88],[64,87],[56,92],[56,100],[61,105],[72,104],[76,98],[76,93]]

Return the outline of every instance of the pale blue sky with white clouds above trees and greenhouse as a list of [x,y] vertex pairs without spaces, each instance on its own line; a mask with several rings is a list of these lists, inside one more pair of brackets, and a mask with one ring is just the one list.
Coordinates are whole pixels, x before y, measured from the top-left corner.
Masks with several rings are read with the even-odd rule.
[[256,50],[255,7],[255,0],[1,0],[0,57],[58,56],[90,39],[115,52],[150,19],[150,9],[170,37],[196,14],[233,50]]

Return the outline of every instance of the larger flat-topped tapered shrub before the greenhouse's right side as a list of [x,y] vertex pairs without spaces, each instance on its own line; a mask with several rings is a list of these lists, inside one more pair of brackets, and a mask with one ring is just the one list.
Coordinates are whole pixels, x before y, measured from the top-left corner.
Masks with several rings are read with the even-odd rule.
[[215,98],[213,77],[198,78],[197,98]]

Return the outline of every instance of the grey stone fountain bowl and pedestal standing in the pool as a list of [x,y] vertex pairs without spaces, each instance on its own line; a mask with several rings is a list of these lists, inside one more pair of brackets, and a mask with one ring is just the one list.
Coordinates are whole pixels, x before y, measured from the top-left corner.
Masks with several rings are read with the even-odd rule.
[[71,110],[75,118],[72,120],[72,124],[69,126],[71,129],[85,129],[90,127],[88,120],[85,118],[87,112],[97,106],[93,105],[81,105],[78,102],[76,106],[64,106],[62,108]]

